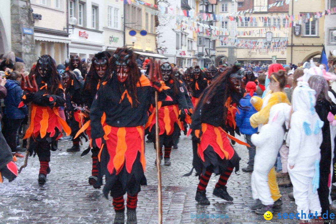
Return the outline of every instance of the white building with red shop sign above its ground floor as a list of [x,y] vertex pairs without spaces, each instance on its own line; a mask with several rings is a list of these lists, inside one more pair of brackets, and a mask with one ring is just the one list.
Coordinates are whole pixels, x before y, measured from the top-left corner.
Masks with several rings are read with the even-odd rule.
[[[68,0],[69,16],[77,19],[73,30],[69,30],[69,54],[79,55],[81,59],[91,60],[94,54],[105,50],[103,34],[104,0]],[[71,26],[70,26],[71,27]]]

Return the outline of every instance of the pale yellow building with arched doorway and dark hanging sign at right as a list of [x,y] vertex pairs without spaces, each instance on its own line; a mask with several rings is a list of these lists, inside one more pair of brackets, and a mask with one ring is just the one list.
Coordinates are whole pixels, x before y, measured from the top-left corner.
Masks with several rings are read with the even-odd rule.
[[324,29],[324,20],[325,17],[330,15],[317,18],[314,12],[323,10],[325,10],[324,1],[293,1],[289,4],[290,14],[300,15],[302,23],[296,24],[293,29],[289,29],[288,62],[297,64],[311,58],[316,62],[320,59],[325,43],[324,37],[327,36]]

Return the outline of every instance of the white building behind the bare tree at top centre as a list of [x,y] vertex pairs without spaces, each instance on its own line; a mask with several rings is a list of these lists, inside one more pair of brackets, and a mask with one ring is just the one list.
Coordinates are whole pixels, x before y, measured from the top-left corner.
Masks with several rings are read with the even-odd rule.
[[[182,12],[182,9],[190,10],[196,15],[195,0],[185,0],[183,1],[183,5],[181,5],[181,2],[181,0],[169,1],[171,4],[169,8],[173,8],[175,11],[178,10],[178,12]],[[180,21],[175,16],[170,21],[167,21],[166,18],[159,17],[159,19],[161,26],[157,28],[157,32],[162,33],[162,37],[158,38],[158,44],[162,44],[162,48],[167,48],[165,51],[159,53],[168,57],[167,60],[170,63],[175,63],[177,66],[182,66],[183,68],[195,66],[197,64],[195,57],[197,46],[193,31],[190,30],[190,27],[193,26],[192,22],[190,20]],[[188,26],[187,28],[185,28],[186,25]]]

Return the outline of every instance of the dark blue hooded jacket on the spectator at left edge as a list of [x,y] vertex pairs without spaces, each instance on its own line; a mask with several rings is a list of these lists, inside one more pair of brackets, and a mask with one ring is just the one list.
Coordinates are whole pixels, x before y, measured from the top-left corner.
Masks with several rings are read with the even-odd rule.
[[6,117],[9,119],[25,118],[28,114],[27,106],[18,108],[23,93],[20,83],[16,80],[7,80],[5,87],[7,89],[7,96],[4,98]]

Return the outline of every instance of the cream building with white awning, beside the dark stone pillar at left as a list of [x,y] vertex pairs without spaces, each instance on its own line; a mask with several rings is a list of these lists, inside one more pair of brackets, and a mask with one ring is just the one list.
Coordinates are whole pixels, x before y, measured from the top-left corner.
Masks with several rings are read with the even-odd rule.
[[49,54],[56,64],[68,58],[70,38],[67,30],[67,2],[63,0],[31,0],[34,20],[35,53]]

